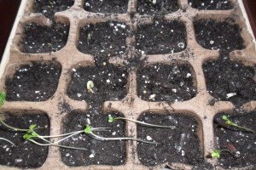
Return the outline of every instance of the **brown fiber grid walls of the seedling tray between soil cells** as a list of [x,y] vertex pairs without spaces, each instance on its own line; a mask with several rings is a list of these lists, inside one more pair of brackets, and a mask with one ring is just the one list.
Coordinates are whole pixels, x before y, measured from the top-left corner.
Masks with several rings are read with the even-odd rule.
[[[147,65],[154,65],[155,63],[165,63],[172,64],[173,62],[183,62],[192,65],[195,73],[195,84],[197,88],[197,94],[193,99],[187,101],[174,102],[168,105],[167,102],[147,102],[140,99],[137,96],[137,72],[129,71],[128,77],[128,94],[125,99],[120,101],[106,101],[103,104],[103,111],[119,111],[127,118],[137,119],[145,111],[154,111],[161,114],[164,111],[169,111],[170,113],[184,113],[189,116],[193,116],[198,122],[198,136],[201,141],[201,150],[206,157],[212,150],[214,150],[214,134],[213,134],[213,118],[216,114],[222,111],[232,111],[234,105],[230,102],[218,101],[215,105],[209,105],[209,99],[212,96],[207,93],[206,82],[204,78],[204,72],[202,71],[201,65],[207,59],[218,58],[218,50],[208,50],[202,48],[195,40],[194,31],[194,20],[199,19],[214,19],[223,20],[224,18],[234,18],[236,15],[236,23],[242,28],[241,37],[244,40],[246,48],[242,50],[236,50],[230,53],[231,59],[240,60],[245,65],[256,64],[256,53],[253,44],[253,39],[251,35],[247,32],[245,25],[245,20],[242,17],[241,9],[238,3],[234,1],[235,7],[230,10],[197,10],[191,8],[187,0],[178,0],[180,9],[172,14],[166,14],[165,20],[180,20],[183,21],[187,30],[187,47],[175,54],[154,54],[145,55],[147,60]],[[25,24],[36,22],[43,26],[50,26],[51,22],[49,19],[45,18],[42,14],[33,14],[32,11],[32,0],[27,0],[26,10],[24,16],[21,18],[16,31],[15,38],[13,40],[12,46],[10,48],[9,63],[5,68],[3,77],[1,78],[1,91],[4,91],[4,82],[7,76],[13,75],[15,68],[20,64],[26,64],[33,60],[52,60],[59,62],[61,64],[61,77],[59,79],[58,87],[52,98],[41,101],[41,102],[26,102],[26,101],[15,101],[6,102],[3,105],[1,111],[44,111],[48,113],[50,120],[50,134],[62,133],[61,125],[65,114],[59,114],[58,104],[60,102],[66,101],[68,105],[71,106],[72,110],[87,111],[88,105],[84,101],[78,101],[70,99],[67,96],[67,84],[71,79],[71,71],[73,68],[78,67],[79,64],[82,65],[94,65],[93,56],[90,54],[82,54],[76,48],[76,43],[79,39],[79,28],[86,24],[95,24],[97,22],[116,20],[124,22],[127,26],[131,26],[131,30],[137,30],[137,25],[141,23],[151,23],[153,21],[152,17],[149,15],[139,15],[135,14],[134,18],[131,19],[130,14],[136,11],[137,0],[130,0],[128,3],[127,14],[101,14],[101,13],[90,13],[83,9],[84,1],[75,0],[73,7],[67,9],[63,12],[58,12],[55,14],[55,20],[59,22],[69,23],[69,35],[67,39],[67,44],[64,48],[51,54],[24,54],[20,52],[20,47],[18,47],[18,42],[22,35],[22,28]],[[183,11],[183,9],[185,9]],[[221,18],[221,19],[220,19]],[[135,37],[127,37],[127,54],[131,58],[132,54],[135,53],[135,48],[133,47],[133,42],[135,42]],[[188,56],[188,54],[194,53],[194,57]],[[28,57],[29,55],[29,57]],[[185,57],[181,57],[185,56]],[[118,56],[113,56],[109,59],[114,65],[122,65],[123,59],[119,59]],[[108,105],[111,103],[111,108]],[[248,102],[244,105],[247,111],[256,110],[256,101]],[[207,119],[204,117],[207,116]],[[137,126],[134,122],[126,123],[126,135],[127,136],[137,136]],[[134,154],[134,150],[137,150],[137,142],[126,142],[126,161],[124,165],[121,166],[102,166],[102,165],[91,165],[86,167],[68,167],[61,161],[61,152],[59,148],[49,147],[49,154],[47,160],[44,162],[42,167],[38,169],[148,169],[148,167],[143,166],[137,156],[137,152]],[[216,161],[212,159],[207,159],[212,165],[216,164]],[[165,167],[165,164],[152,167],[152,169],[160,169],[160,167]],[[191,169],[189,165],[173,163],[170,165],[175,169]],[[15,167],[0,166],[2,169],[15,169]],[[220,168],[220,167],[219,167]]]

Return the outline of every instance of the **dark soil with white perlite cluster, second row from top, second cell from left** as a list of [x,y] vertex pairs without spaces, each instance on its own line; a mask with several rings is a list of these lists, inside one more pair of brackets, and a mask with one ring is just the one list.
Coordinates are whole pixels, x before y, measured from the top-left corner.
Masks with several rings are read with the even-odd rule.
[[116,21],[86,25],[80,29],[78,48],[84,54],[101,58],[121,55],[130,33],[128,26]]

